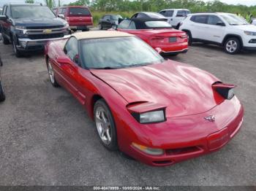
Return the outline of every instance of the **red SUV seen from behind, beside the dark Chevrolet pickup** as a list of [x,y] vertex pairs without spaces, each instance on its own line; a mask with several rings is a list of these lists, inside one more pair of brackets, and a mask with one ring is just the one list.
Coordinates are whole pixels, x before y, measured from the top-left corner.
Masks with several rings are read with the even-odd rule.
[[94,26],[93,18],[88,7],[66,6],[59,7],[56,15],[67,20],[72,31],[89,31]]

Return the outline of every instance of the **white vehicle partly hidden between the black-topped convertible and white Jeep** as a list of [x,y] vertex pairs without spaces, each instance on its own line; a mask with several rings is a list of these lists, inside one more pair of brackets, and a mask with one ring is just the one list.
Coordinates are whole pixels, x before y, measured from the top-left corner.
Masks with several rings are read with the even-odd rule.
[[190,14],[189,9],[164,9],[159,12],[168,19],[168,23],[174,28],[179,28],[181,21]]

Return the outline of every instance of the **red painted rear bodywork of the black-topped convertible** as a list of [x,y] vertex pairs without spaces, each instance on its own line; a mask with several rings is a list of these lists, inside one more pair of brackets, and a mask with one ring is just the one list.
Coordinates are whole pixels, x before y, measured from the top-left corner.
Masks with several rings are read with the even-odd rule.
[[[134,34],[140,37],[146,43],[148,43],[154,49],[159,47],[163,52],[181,52],[188,49],[187,38],[181,37],[186,36],[184,31],[178,31],[176,29],[143,29],[143,30],[127,30],[127,29],[117,29],[118,31],[123,31],[129,34]],[[176,42],[169,42],[170,37],[176,37]],[[157,40],[160,39],[160,40]]]

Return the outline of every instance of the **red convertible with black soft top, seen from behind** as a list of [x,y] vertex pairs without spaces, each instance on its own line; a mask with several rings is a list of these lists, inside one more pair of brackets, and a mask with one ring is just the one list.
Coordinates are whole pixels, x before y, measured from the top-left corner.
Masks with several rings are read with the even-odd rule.
[[116,30],[134,34],[154,49],[161,48],[162,55],[178,55],[188,50],[187,34],[172,28],[165,20],[132,18],[123,20]]

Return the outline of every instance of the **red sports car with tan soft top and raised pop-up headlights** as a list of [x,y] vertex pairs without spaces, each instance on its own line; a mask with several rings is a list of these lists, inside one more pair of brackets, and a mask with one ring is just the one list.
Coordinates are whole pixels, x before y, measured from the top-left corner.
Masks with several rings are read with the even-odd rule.
[[244,109],[234,85],[165,61],[132,34],[77,33],[45,51],[50,82],[83,104],[102,144],[148,165],[214,152],[241,128]]

